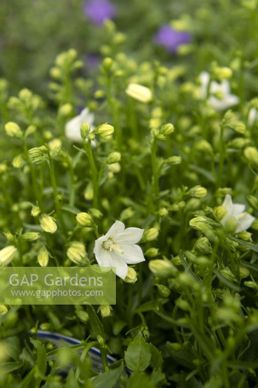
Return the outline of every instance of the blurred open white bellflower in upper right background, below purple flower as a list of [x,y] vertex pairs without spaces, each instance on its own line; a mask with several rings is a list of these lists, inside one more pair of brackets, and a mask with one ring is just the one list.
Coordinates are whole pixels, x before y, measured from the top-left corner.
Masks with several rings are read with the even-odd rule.
[[[199,76],[199,80],[201,81],[200,97],[203,99],[207,98],[210,74],[206,71],[203,71]],[[217,98],[215,95],[217,95],[219,98]],[[222,80],[221,83],[216,81],[210,82],[209,104],[215,111],[224,111],[225,109],[237,105],[238,103],[239,97],[231,94],[230,84],[227,80]]]

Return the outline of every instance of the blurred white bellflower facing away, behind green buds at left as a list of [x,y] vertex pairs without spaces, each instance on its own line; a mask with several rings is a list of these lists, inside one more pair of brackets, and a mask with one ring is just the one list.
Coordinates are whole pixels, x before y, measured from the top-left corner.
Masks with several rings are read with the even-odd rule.
[[78,116],[73,117],[65,125],[65,136],[72,142],[81,142],[81,126],[87,123],[90,131],[94,129],[95,115],[90,113],[89,108],[85,108]]

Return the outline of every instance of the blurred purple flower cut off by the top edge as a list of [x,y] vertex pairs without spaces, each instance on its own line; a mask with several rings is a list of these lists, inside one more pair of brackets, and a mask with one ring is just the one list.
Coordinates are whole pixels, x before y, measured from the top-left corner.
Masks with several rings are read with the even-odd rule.
[[109,0],[86,0],[84,12],[94,24],[101,26],[105,20],[114,18],[116,7]]

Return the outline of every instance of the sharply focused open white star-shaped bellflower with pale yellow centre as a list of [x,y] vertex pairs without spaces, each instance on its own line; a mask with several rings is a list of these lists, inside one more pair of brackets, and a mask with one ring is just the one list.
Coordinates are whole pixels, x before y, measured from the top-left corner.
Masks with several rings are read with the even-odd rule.
[[136,242],[143,237],[144,229],[128,227],[115,221],[105,236],[95,241],[94,253],[100,267],[115,267],[116,275],[125,279],[127,264],[145,261],[143,251]]

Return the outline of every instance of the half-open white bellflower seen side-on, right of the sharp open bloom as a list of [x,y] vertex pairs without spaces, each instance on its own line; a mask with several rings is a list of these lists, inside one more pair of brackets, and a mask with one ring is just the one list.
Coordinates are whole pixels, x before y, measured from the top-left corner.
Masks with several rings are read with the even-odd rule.
[[239,233],[247,230],[253,224],[255,217],[244,211],[245,205],[232,203],[230,194],[226,194],[222,206],[226,210],[226,214],[221,220],[225,229]]

